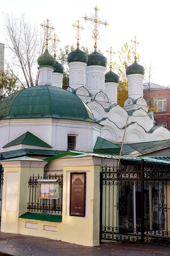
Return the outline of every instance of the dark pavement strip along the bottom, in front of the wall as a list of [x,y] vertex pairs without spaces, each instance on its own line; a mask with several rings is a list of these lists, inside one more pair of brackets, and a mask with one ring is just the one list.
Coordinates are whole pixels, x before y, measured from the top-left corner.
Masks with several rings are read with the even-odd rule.
[[152,244],[104,243],[85,247],[34,236],[0,232],[2,256],[151,256],[170,255],[170,247]]

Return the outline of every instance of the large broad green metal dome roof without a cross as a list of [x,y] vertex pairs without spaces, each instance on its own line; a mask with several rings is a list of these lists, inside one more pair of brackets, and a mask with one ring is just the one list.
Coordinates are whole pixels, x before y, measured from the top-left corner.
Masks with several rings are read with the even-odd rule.
[[91,110],[77,95],[58,87],[29,87],[0,103],[0,119],[52,117],[94,122]]

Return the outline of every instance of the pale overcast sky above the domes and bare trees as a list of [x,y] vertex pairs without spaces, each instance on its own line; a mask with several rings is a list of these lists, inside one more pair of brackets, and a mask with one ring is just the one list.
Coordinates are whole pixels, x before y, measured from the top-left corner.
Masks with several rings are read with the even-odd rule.
[[[8,0],[1,1],[0,8],[0,42],[3,43],[3,23],[5,14],[18,16],[24,13],[32,22],[42,23],[49,18],[59,35],[59,48],[66,44],[76,47],[75,30],[73,23],[79,18],[85,28],[81,32],[80,46],[91,49],[94,39],[91,36],[90,21],[85,22],[84,16],[91,17],[94,7],[99,8],[100,20],[107,20],[108,26],[102,26],[98,48],[108,57],[106,50],[110,46],[118,52],[125,42],[131,44],[136,35],[139,46],[137,53],[140,55],[140,64],[147,67],[152,63],[151,82],[168,86],[170,84],[170,20],[169,0]],[[113,57],[113,58],[116,58]],[[148,79],[147,71],[145,73]]]

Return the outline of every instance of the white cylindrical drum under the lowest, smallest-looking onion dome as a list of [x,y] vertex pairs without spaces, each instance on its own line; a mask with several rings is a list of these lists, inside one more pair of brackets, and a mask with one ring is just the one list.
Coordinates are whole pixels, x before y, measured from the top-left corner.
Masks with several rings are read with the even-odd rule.
[[105,93],[111,105],[117,104],[117,83],[105,83]]

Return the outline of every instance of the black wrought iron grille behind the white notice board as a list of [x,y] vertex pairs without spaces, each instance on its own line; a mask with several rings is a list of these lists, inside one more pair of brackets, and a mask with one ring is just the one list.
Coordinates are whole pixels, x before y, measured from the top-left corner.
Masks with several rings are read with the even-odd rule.
[[[38,180],[57,180],[59,184],[59,198],[40,198],[39,195],[39,181]],[[28,181],[29,187],[29,202],[27,209],[30,212],[40,212],[48,214],[62,214],[62,187],[63,187],[63,175],[49,175],[45,176],[33,176],[29,178]]]

